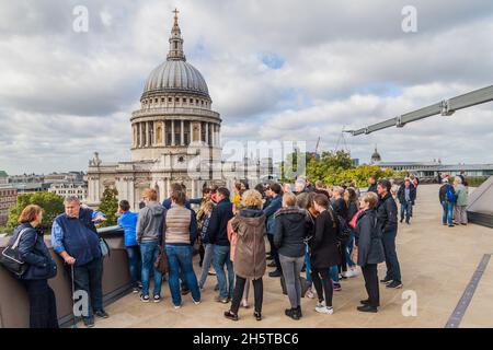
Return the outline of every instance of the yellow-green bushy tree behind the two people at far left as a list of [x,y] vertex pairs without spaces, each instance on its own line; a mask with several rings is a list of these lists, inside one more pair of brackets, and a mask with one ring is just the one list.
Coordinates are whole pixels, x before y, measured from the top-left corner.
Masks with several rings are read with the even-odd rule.
[[28,205],[37,205],[43,208],[42,225],[51,229],[55,218],[65,211],[64,198],[51,192],[35,192],[18,196],[18,202],[10,209],[9,219],[7,221],[7,231],[12,233],[13,229],[19,224],[18,219],[21,212]]

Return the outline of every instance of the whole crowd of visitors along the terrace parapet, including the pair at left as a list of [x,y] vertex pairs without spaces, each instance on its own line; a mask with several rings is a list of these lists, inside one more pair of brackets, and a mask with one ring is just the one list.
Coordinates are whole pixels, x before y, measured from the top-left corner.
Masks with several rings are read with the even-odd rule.
[[[408,223],[412,217],[415,186],[406,179],[399,189],[401,222],[404,215]],[[144,203],[139,213],[130,211],[127,200],[121,200],[118,208],[133,292],[144,303],[159,303],[163,281],[168,281],[174,308],[182,306],[186,294],[199,304],[207,280],[215,277],[215,301],[230,304],[225,317],[238,320],[240,307],[250,307],[253,285],[253,316],[261,320],[263,279],[279,278],[279,292],[283,289],[289,300],[285,315],[300,319],[303,296],[317,299],[313,308],[318,313],[333,314],[333,294],[342,291],[342,280],[358,276],[357,266],[368,294],[357,306],[359,312],[378,312],[379,283],[402,288],[395,252],[398,207],[387,179],[370,178],[364,194],[354,182],[326,187],[300,177],[294,185],[270,183],[254,189],[238,183],[233,194],[213,186],[203,188],[202,198],[195,199],[186,197],[184,185],[172,184],[163,202],[154,189],[146,189]],[[27,231],[20,238],[20,252],[32,265],[21,278],[28,290],[31,326],[55,327],[55,295],[47,280],[56,264],[43,240],[35,240],[41,220],[42,208],[24,209],[13,240]],[[69,268],[74,290],[88,292],[89,311],[82,315],[87,327],[94,326],[95,317],[110,317],[102,303],[104,247],[95,226],[104,220],[103,213],[69,197],[51,230],[54,250]],[[195,253],[199,255],[198,275]],[[157,264],[162,256],[168,261],[164,273]],[[379,281],[377,266],[383,261],[387,271]],[[273,268],[268,273],[267,267]]]

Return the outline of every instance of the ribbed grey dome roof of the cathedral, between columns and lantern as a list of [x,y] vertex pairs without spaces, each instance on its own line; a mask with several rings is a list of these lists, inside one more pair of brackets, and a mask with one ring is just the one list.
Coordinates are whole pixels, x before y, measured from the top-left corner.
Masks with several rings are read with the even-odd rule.
[[209,90],[200,72],[185,60],[168,59],[152,70],[144,93],[192,92],[209,97]]

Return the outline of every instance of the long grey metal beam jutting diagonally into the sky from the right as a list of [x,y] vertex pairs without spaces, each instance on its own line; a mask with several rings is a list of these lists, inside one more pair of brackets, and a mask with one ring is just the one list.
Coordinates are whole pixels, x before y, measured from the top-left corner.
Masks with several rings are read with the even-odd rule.
[[353,136],[368,135],[374,131],[382,130],[390,127],[402,128],[408,122],[417,121],[424,118],[428,118],[435,115],[450,116],[456,110],[463,109],[467,107],[480,105],[486,102],[493,101],[493,85],[474,90],[463,95],[459,95],[449,100],[443,100],[442,102],[435,103],[431,106],[410,112],[400,116],[397,116],[385,121],[367,126],[366,128],[357,130],[346,130]]

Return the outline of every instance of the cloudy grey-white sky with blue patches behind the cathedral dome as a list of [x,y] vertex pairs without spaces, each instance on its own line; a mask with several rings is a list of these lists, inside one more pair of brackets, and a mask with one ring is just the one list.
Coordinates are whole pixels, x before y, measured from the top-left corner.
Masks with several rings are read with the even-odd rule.
[[[404,5],[417,32],[404,33]],[[73,9],[89,11],[87,33]],[[424,0],[0,0],[0,170],[87,170],[129,160],[130,113],[165,59],[181,11],[222,140],[332,150],[360,128],[493,82],[493,2]],[[367,162],[493,163],[492,104],[348,137]]]

